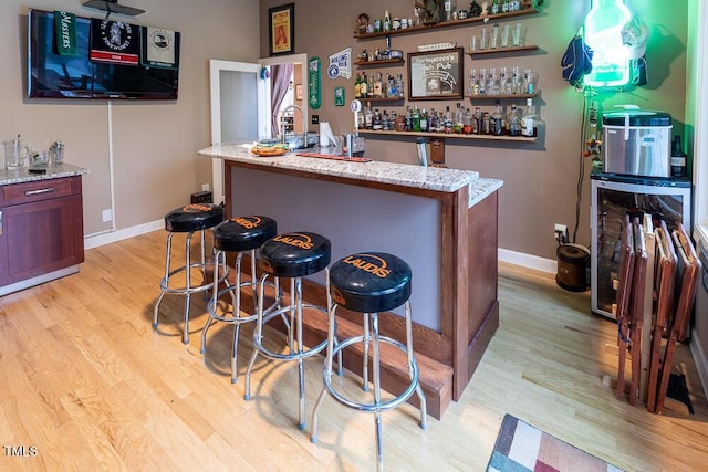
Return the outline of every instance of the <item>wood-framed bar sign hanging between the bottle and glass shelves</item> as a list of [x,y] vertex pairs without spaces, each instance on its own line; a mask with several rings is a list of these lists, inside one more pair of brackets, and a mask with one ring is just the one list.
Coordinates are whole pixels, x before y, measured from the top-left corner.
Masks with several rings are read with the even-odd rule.
[[462,99],[464,48],[408,53],[408,99]]

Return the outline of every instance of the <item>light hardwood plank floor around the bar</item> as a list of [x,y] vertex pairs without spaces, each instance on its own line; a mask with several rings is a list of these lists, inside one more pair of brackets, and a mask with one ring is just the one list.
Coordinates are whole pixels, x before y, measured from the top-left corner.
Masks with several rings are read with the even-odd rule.
[[[310,418],[298,430],[294,365],[260,360],[244,401],[250,331],[232,385],[230,328],[215,326],[199,354],[201,297],[189,345],[178,297],[152,328],[164,248],[156,231],[92,249],[79,274],[0,297],[0,470],[375,470],[372,415],[327,398],[319,443]],[[482,471],[504,413],[629,471],[705,470],[708,407],[687,346],[677,361],[696,413],[631,407],[603,382],[616,373],[616,328],[590,314],[589,293],[500,272],[500,327],[461,400],[425,431],[412,406],[384,415],[387,470]],[[310,416],[320,358],[305,367]]]

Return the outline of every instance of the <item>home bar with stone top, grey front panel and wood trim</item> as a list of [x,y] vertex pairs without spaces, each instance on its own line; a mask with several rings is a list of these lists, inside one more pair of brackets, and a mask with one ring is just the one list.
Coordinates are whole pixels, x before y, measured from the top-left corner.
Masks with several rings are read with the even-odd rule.
[[[497,193],[502,182],[475,171],[377,160],[294,153],[259,157],[236,144],[199,155],[223,160],[227,217],[263,214],[278,222],[280,233],[320,233],[332,242],[332,262],[379,251],[410,265],[414,349],[428,412],[439,419],[462,395],[499,326]],[[305,282],[308,301],[325,306],[324,272]],[[340,337],[362,323],[361,314],[345,310],[337,311],[337,319]],[[382,314],[379,323],[382,334],[405,339],[397,311]],[[309,326],[311,340],[326,335],[323,324]],[[387,365],[386,355],[383,386],[399,391],[407,381],[405,366]],[[348,356],[344,363],[361,371],[361,358]]]

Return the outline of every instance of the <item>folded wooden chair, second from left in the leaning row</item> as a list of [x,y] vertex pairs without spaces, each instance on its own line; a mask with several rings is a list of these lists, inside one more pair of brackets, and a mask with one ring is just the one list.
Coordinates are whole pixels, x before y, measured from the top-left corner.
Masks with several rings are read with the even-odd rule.
[[629,357],[632,358],[632,378],[629,379],[629,405],[637,403],[639,377],[642,374],[642,328],[644,325],[644,292],[646,284],[647,250],[644,227],[638,218],[634,219],[634,274],[629,300]]

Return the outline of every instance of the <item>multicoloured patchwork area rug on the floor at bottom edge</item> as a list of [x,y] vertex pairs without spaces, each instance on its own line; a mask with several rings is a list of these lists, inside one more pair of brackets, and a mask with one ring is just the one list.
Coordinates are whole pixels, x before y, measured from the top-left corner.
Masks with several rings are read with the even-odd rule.
[[487,472],[623,472],[511,415],[504,416]]

